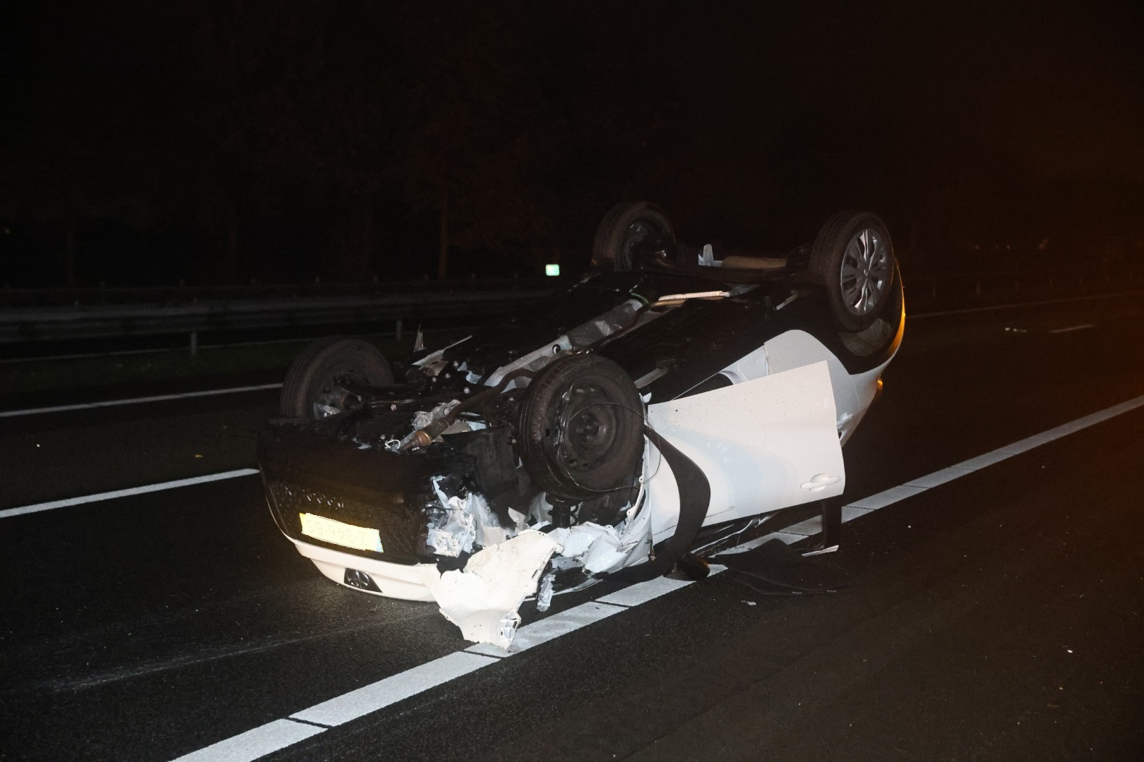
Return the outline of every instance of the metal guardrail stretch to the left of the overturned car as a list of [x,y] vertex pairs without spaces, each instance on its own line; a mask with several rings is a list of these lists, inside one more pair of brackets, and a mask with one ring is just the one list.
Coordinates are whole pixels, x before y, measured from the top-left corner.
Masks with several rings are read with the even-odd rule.
[[169,305],[8,308],[0,310],[0,345],[188,334],[193,346],[197,335],[207,331],[505,314],[534,304],[549,294],[551,289],[427,291]]

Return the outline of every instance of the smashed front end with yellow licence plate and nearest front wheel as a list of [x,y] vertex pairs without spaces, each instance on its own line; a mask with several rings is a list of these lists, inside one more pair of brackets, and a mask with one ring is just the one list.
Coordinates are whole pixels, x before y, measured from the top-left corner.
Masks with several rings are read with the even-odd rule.
[[543,609],[651,548],[644,403],[619,366],[580,352],[637,306],[486,377],[446,350],[411,384],[339,379],[360,407],[279,419],[260,440],[279,529],[334,581],[436,601],[466,637],[507,648],[538,587]]

